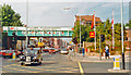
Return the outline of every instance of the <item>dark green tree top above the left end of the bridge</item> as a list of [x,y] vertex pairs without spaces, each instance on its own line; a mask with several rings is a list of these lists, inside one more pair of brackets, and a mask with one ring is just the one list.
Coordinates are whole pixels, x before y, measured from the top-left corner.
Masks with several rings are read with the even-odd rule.
[[0,7],[0,25],[1,26],[23,26],[21,15],[12,10],[11,5],[3,4]]

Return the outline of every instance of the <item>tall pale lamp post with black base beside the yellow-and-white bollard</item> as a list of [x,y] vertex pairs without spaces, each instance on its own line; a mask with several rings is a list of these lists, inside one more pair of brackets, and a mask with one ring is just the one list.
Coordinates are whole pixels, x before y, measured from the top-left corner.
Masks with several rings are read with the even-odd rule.
[[122,4],[123,4],[123,0],[122,0],[122,2],[121,2],[121,42],[122,42],[122,68],[124,70],[124,51],[123,51],[123,24],[122,24],[122,9],[123,9],[123,7],[122,7]]

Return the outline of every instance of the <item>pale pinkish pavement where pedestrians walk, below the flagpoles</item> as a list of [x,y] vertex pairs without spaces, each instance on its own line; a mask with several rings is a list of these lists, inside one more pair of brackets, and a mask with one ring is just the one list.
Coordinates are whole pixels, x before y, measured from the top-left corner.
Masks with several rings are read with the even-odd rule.
[[[100,60],[99,57],[96,57],[96,55],[85,54],[85,57],[83,57],[82,53],[71,52],[70,59],[72,61],[79,61],[79,62],[114,62],[115,57],[116,55],[110,55],[110,59],[105,59],[105,57],[102,57],[102,60]],[[120,62],[121,62],[122,58],[121,58],[121,55],[119,55],[119,57],[120,57]],[[126,60],[126,62],[129,62],[129,60],[131,60],[131,57],[126,55],[124,60]]]

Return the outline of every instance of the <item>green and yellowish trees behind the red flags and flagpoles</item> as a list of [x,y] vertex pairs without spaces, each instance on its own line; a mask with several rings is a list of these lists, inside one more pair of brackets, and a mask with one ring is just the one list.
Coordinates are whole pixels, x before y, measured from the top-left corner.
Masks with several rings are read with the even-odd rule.
[[[129,24],[127,24],[129,26],[131,26],[131,20],[129,21]],[[105,35],[105,41],[109,40],[112,41],[112,27],[111,27],[111,22],[109,21],[109,18],[106,20],[106,22],[100,23],[98,26],[96,26],[96,41],[97,41],[97,52],[99,51],[99,34],[100,35]],[[94,32],[94,29],[91,29],[91,25],[81,25],[81,36],[82,36],[82,41],[87,41],[87,42],[92,42],[94,41],[94,38],[90,38],[90,32]],[[116,23],[114,24],[115,27],[115,50],[121,52],[121,23]],[[123,38],[126,40],[126,26],[123,25]],[[72,37],[78,37],[78,42],[80,40],[80,22],[76,22],[75,26],[74,26],[74,33]],[[106,47],[106,42],[100,42],[100,49],[104,50]],[[110,45],[112,46],[112,43]],[[94,49],[94,46],[88,47],[90,49]],[[126,45],[124,45],[124,49],[126,49]]]

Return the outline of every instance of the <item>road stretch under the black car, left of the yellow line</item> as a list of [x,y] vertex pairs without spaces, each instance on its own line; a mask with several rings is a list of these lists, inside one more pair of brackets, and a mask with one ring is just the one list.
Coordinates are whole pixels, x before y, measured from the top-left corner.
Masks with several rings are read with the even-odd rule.
[[78,62],[69,60],[60,53],[43,53],[41,65],[20,65],[11,59],[2,60],[3,73],[79,73]]

